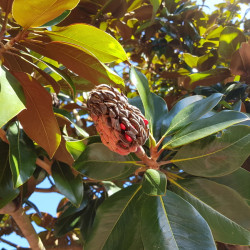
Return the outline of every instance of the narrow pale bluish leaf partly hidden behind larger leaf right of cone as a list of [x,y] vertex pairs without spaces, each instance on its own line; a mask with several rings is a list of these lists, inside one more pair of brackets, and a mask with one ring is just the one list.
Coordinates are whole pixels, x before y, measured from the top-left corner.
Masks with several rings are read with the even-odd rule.
[[163,122],[162,122],[162,126],[161,126],[161,134],[164,135],[166,133],[171,121],[182,109],[184,109],[186,106],[188,106],[194,102],[197,102],[199,100],[202,100],[202,99],[203,99],[202,95],[194,95],[194,96],[186,97],[186,98],[180,100],[179,102],[177,102],[174,105],[174,107],[167,113],[167,115],[165,115],[165,117],[163,117]]

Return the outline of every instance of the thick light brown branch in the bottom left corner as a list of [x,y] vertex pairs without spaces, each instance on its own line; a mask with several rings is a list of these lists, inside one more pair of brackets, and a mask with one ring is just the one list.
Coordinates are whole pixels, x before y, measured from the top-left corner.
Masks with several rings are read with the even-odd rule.
[[10,202],[0,209],[0,214],[9,214],[12,216],[23,236],[29,242],[32,250],[45,250],[41,239],[38,237],[29,217],[25,214],[22,207],[16,208],[14,202]]

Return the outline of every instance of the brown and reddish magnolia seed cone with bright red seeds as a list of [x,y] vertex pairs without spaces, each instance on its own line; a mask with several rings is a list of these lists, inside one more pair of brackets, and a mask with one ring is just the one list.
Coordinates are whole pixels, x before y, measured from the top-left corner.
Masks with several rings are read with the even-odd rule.
[[87,107],[103,144],[110,150],[127,155],[146,142],[148,121],[117,89],[99,85],[90,92]]

